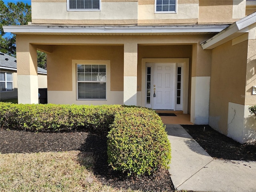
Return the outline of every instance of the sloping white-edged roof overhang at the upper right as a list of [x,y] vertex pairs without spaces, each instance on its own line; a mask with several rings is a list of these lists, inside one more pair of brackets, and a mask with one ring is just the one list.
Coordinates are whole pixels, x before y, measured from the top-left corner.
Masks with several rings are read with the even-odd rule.
[[213,49],[220,46],[242,34],[248,33],[250,26],[256,24],[256,12],[250,14],[241,20],[234,22],[232,25],[222,30],[212,38],[201,42],[203,49]]

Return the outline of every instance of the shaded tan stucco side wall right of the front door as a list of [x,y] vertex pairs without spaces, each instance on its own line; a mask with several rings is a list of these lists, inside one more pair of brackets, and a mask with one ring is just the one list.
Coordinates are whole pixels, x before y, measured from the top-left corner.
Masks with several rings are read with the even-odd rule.
[[244,105],[248,41],[212,50],[209,125],[228,133],[229,102]]

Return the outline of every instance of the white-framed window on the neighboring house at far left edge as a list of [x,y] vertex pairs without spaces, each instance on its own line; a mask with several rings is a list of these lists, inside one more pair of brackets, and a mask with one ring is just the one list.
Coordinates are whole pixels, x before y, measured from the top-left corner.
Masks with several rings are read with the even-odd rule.
[[0,72],[0,91],[13,91],[13,77],[11,72]]

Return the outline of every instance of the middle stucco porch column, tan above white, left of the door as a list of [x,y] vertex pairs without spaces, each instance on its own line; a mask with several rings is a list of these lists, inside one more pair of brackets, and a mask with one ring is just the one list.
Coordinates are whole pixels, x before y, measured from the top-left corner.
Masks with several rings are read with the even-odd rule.
[[137,105],[138,44],[124,43],[124,104]]

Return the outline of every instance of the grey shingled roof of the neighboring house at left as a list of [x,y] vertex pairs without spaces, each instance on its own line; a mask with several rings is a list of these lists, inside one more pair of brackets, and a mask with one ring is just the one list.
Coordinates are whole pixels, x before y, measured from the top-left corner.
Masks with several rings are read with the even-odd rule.
[[[17,60],[15,57],[0,52],[0,69],[17,71]],[[47,74],[47,70],[37,67],[38,74]]]

